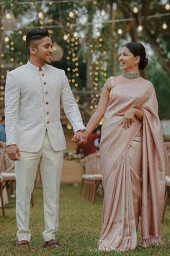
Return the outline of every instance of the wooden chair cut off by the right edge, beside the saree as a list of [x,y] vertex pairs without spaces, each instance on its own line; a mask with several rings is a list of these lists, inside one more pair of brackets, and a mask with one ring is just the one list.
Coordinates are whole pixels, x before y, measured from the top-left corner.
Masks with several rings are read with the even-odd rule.
[[169,188],[170,188],[170,142],[164,142],[164,150],[166,156],[166,192],[165,192],[165,202],[164,202],[164,214],[162,222],[164,221],[164,215],[166,211],[166,205],[169,197]]

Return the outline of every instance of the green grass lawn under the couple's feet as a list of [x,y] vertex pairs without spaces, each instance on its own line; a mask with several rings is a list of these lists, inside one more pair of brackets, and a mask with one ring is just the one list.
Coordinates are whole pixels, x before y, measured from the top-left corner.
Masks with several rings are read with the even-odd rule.
[[60,227],[57,238],[63,249],[43,249],[43,210],[42,187],[35,187],[35,208],[31,209],[30,229],[32,231],[32,249],[16,247],[16,223],[14,200],[6,207],[3,218],[0,209],[0,256],[20,255],[170,255],[170,205],[162,225],[164,245],[151,249],[138,247],[130,252],[98,252],[97,239],[100,231],[102,214],[102,197],[91,205],[80,195],[80,186],[61,186]]

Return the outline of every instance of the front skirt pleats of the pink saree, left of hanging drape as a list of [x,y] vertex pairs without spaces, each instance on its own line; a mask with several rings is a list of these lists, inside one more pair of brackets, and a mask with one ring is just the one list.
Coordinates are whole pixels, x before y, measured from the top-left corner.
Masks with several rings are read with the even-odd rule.
[[[135,144],[135,148],[133,146]],[[137,145],[139,144],[139,145]],[[138,148],[138,151],[136,150]],[[141,179],[138,177],[141,165],[138,161],[130,166],[130,157],[141,158],[141,142],[133,142],[122,161],[112,171],[104,187],[103,223],[99,239],[99,249],[127,250],[137,245],[136,223],[138,223],[141,200]],[[133,174],[132,168],[138,168]],[[138,184],[138,186],[134,186]],[[112,195],[112,197],[110,196]]]

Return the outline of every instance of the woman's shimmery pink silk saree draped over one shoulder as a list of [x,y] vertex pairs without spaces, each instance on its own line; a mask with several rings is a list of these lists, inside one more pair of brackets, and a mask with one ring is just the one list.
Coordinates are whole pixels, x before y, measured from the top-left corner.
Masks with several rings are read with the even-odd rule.
[[[164,209],[164,144],[153,85],[139,77],[115,84],[104,114],[100,142],[104,188],[100,250],[126,251],[138,245],[140,221],[142,246],[161,244],[160,226]],[[122,128],[129,108],[143,111],[143,123],[136,119]],[[140,218],[140,219],[139,219]]]

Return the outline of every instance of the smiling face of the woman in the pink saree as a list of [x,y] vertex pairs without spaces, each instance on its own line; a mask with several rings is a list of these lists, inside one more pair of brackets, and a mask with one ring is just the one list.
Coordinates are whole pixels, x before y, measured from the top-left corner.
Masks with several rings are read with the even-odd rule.
[[139,61],[140,56],[134,56],[127,47],[122,47],[119,57],[120,69],[125,72],[137,72]]

